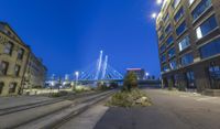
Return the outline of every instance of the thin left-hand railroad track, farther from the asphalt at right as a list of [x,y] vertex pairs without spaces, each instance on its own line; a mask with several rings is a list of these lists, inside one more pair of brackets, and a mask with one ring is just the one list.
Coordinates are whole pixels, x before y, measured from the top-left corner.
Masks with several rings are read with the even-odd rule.
[[64,97],[61,97],[57,99],[52,99],[52,100],[43,100],[43,101],[38,101],[38,103],[32,103],[32,104],[20,105],[20,106],[14,106],[14,107],[9,107],[9,108],[2,108],[2,109],[0,109],[0,116],[14,114],[18,111],[22,111],[22,110],[26,110],[26,109],[31,109],[31,108],[37,108],[37,107],[42,107],[42,106],[46,106],[46,105],[52,105],[52,104],[61,103],[64,100],[74,100],[74,99],[77,99],[77,98],[80,98],[84,96],[90,96],[90,95],[95,95],[95,94],[98,94],[98,93],[70,95],[70,96],[64,96]]

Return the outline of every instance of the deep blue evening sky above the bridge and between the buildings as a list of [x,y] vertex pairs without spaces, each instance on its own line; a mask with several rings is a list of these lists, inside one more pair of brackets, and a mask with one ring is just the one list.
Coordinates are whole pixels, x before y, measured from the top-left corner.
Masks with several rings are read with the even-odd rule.
[[48,74],[64,75],[87,67],[103,50],[110,64],[124,73],[143,67],[160,75],[155,0],[0,0],[6,21]]

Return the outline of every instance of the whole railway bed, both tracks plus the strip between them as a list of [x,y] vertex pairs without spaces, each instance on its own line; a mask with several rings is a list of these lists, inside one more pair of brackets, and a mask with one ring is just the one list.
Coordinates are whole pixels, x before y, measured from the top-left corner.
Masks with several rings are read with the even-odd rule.
[[65,123],[116,90],[67,96],[24,106],[0,109],[0,129],[53,129]]

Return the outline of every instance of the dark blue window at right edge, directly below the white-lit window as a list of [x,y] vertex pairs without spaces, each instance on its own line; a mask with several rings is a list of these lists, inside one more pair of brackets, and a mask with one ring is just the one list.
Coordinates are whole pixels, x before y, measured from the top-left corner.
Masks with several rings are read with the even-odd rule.
[[220,37],[199,49],[201,58],[220,54]]

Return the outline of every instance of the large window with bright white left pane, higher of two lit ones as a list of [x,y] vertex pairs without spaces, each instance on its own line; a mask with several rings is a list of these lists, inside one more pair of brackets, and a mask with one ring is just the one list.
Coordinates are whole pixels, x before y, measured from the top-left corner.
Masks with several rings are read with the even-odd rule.
[[218,24],[215,15],[210,17],[207,21],[205,21],[200,26],[196,29],[197,39],[199,40],[204,37],[217,26]]

